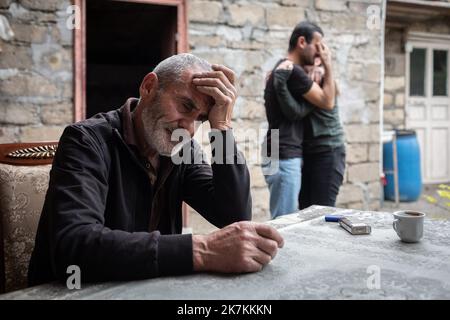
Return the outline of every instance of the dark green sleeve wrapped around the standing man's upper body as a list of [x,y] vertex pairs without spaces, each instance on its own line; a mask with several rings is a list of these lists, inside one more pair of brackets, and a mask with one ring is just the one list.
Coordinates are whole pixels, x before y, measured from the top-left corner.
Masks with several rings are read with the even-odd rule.
[[[306,99],[296,99],[291,94],[288,88],[288,79],[292,74],[292,70],[275,70],[273,74],[273,85],[281,112],[284,116],[290,120],[301,120],[314,110],[314,105]],[[300,87],[304,88],[304,86]],[[302,90],[299,92],[302,92]]]

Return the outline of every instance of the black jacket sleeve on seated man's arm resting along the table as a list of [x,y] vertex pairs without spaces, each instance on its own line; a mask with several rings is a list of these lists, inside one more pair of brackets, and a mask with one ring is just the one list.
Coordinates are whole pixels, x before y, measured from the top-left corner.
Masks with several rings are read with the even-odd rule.
[[105,212],[110,174],[105,149],[95,133],[83,126],[68,127],[60,140],[45,208],[56,276],[64,280],[69,265],[80,267],[84,281],[192,271],[191,235],[162,236],[158,231],[105,227],[105,214],[120,214]]

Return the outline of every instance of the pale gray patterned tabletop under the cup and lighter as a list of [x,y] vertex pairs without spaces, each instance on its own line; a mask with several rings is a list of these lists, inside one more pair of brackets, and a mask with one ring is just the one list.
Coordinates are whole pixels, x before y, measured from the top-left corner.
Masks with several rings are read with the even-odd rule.
[[[326,214],[372,226],[354,236]],[[450,221],[425,219],[424,238],[403,243],[393,216],[312,206],[270,221],[285,239],[261,272],[194,274],[132,282],[82,284],[69,290],[46,284],[0,299],[450,299]]]

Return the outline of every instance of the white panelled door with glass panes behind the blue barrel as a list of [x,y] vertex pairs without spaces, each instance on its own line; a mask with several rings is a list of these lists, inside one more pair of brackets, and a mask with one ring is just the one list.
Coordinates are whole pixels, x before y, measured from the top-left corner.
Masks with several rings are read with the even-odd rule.
[[450,181],[450,38],[409,41],[406,125],[417,132],[425,183]]

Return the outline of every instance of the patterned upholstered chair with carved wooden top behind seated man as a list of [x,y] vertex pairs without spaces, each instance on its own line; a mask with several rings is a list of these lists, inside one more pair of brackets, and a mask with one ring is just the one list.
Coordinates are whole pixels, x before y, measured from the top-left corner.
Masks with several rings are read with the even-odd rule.
[[26,287],[57,143],[0,144],[0,292]]

